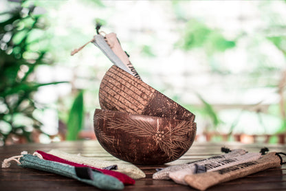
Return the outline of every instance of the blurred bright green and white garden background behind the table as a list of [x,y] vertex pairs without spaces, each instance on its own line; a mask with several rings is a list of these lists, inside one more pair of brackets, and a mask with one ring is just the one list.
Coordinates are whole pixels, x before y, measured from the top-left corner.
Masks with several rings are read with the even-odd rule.
[[285,143],[286,1],[0,2],[0,145],[94,139],[115,32],[144,82],[195,113],[197,141]]

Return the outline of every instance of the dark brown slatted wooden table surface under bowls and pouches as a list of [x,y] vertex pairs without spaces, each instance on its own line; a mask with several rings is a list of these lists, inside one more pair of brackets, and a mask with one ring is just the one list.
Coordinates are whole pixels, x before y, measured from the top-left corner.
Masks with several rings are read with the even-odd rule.
[[[286,153],[285,145],[265,145],[265,144],[240,144],[240,143],[194,143],[190,150],[178,159],[169,164],[162,166],[138,166],[146,173],[146,178],[136,180],[134,186],[125,186],[124,190],[195,190],[189,186],[181,186],[171,180],[160,181],[153,180],[152,175],[156,172],[156,168],[162,168],[174,164],[182,164],[196,159],[203,159],[213,155],[221,154],[221,146],[230,149],[243,148],[249,152],[257,152],[265,146],[270,151]],[[51,149],[60,149],[67,153],[77,154],[86,157],[98,157],[109,161],[116,161],[107,153],[96,141],[80,141],[80,142],[59,142],[52,144],[21,144],[0,147],[0,160],[20,155],[21,151],[26,150],[28,153],[34,153],[35,150],[49,151]],[[0,190],[98,190],[93,186],[89,186],[80,181],[55,175],[50,172],[33,170],[30,168],[21,168],[12,162],[10,168],[1,168],[0,171]],[[286,190],[286,165],[282,168],[272,168],[257,172],[253,175],[221,183],[212,186],[208,190]]]

